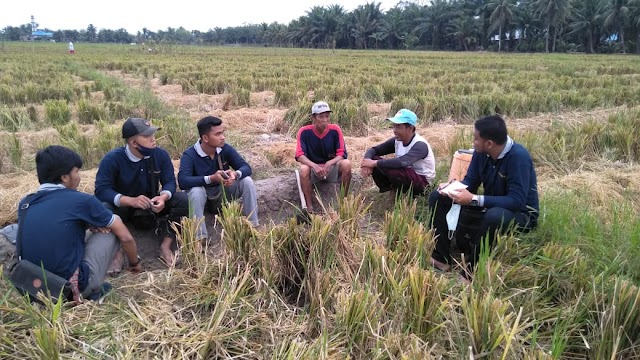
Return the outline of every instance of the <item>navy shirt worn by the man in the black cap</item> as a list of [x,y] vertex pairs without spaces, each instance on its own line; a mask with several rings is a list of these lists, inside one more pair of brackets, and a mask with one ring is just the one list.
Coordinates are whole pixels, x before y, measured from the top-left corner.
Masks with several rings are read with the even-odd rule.
[[158,180],[162,184],[162,191],[169,191],[173,196],[176,192],[176,177],[169,153],[157,148],[152,159],[155,164],[155,184],[151,183],[147,159],[131,161],[124,147],[108,152],[102,158],[96,174],[96,197],[110,204],[113,204],[118,194],[131,197],[140,195],[154,197],[158,194],[153,194],[152,186],[157,188]]

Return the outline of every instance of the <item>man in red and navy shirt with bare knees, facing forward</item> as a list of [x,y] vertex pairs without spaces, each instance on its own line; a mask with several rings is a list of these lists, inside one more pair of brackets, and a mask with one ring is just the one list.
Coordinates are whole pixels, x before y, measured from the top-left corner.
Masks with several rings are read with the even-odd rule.
[[329,104],[318,101],[311,107],[311,125],[300,128],[296,143],[296,161],[300,163],[300,182],[307,210],[313,212],[312,185],[320,181],[342,184],[349,192],[351,162],[347,160],[342,129],[331,124]]

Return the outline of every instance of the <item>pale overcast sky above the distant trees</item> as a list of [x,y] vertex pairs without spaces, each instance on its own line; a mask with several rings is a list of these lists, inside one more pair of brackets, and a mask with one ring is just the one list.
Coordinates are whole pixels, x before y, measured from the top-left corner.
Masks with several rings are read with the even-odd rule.
[[[399,0],[376,1],[384,11]],[[143,27],[151,31],[183,26],[187,30],[207,31],[215,27],[246,24],[279,23],[306,13],[313,6],[340,4],[351,11],[366,0],[203,0],[203,1],[150,1],[150,0],[2,0],[0,29],[19,26],[35,16],[40,28],[52,30],[86,29],[93,24],[98,29],[125,28],[135,34]]]

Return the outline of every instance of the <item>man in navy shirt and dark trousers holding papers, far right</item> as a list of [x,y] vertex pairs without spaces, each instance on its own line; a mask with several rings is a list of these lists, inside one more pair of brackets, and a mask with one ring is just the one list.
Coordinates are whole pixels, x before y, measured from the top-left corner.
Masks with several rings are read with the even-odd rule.
[[[444,271],[448,271],[452,263],[446,220],[452,203],[486,209],[480,230],[464,254],[468,266],[463,274],[466,280],[471,279],[485,236],[491,247],[497,231],[514,227],[520,231],[533,229],[539,213],[536,171],[531,156],[507,135],[507,126],[500,116],[486,116],[475,122],[473,147],[475,151],[462,181],[468,187],[444,195],[440,189],[447,184],[440,184],[429,197],[436,236],[431,263]],[[481,184],[484,194],[476,194]]]

